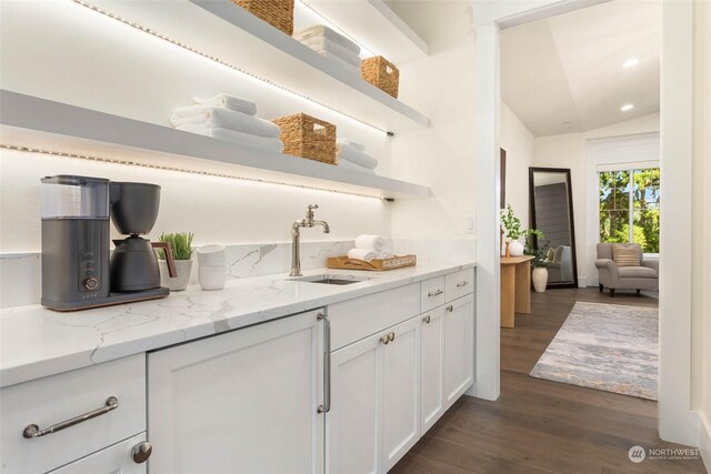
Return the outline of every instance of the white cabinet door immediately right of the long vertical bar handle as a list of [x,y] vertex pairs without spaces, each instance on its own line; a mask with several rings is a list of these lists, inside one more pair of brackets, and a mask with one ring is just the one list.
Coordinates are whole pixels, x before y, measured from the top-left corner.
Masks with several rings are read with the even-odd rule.
[[331,411],[326,417],[327,473],[380,468],[381,334],[331,354]]

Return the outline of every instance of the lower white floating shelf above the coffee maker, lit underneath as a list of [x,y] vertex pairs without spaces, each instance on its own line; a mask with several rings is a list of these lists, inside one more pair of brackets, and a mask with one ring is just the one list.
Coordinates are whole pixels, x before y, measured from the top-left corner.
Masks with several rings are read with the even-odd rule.
[[239,175],[382,198],[427,198],[430,189],[289,154],[242,147],[17,92],[0,91],[2,144],[152,167]]

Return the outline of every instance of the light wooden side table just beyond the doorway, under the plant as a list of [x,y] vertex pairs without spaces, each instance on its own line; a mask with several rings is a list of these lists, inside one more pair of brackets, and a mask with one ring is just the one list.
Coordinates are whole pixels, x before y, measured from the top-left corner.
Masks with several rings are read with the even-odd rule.
[[515,313],[531,313],[531,260],[501,258],[501,327],[513,327]]

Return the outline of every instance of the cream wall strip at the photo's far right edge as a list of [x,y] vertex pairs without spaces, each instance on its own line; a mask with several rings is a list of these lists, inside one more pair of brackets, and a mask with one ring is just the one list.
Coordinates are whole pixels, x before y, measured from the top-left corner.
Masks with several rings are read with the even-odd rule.
[[694,4],[693,199],[691,253],[691,395],[699,445],[711,470],[711,3]]

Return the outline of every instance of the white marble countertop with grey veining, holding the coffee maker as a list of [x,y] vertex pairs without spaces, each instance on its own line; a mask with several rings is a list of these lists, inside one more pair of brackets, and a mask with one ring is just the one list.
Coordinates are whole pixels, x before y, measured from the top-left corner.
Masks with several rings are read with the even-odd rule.
[[152,351],[270,321],[340,301],[473,268],[418,262],[389,272],[319,269],[304,275],[359,274],[350,285],[289,280],[286,274],[228,281],[220,291],[199,286],[161,300],[60,313],[40,305],[0,311],[0,386]]

